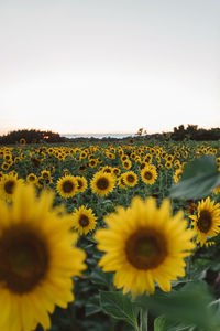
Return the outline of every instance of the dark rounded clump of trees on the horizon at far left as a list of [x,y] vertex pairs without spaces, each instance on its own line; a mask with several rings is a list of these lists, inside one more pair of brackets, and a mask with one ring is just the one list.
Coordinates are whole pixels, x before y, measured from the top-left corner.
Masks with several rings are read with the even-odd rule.
[[11,143],[38,143],[38,142],[64,142],[67,139],[61,137],[59,134],[52,131],[41,131],[35,129],[22,129],[11,131],[8,135],[0,136],[0,145]]

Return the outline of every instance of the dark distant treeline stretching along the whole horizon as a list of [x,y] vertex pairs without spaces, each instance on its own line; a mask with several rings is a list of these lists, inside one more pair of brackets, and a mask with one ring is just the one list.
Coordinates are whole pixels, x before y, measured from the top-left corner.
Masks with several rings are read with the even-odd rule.
[[[184,139],[190,139],[196,141],[213,141],[213,140],[220,140],[220,128],[211,128],[211,129],[204,129],[198,128],[197,125],[188,125],[186,128],[184,125],[179,125],[178,127],[174,127],[173,132],[163,132],[163,134],[153,134],[148,135],[146,130],[143,130],[143,128],[139,129],[135,137],[127,137],[122,139],[116,139],[106,137],[102,139],[103,141],[116,141],[116,140],[122,140],[122,141],[129,141],[134,140],[135,138],[144,138],[146,139],[157,139],[157,140],[176,140],[176,141],[183,141]],[[8,135],[0,136],[0,145],[13,145],[13,143],[42,143],[42,142],[67,142],[67,141],[95,141],[96,138],[66,138],[61,137],[59,134],[52,132],[52,131],[41,131],[35,129],[22,129],[22,130],[15,130],[11,131]]]

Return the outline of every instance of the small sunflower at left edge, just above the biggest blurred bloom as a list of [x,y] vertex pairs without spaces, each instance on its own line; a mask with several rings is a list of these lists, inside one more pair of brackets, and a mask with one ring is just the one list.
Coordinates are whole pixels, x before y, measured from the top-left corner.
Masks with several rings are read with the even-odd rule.
[[14,197],[14,191],[18,185],[23,183],[22,179],[18,179],[15,174],[4,174],[0,180],[0,197],[11,202]]

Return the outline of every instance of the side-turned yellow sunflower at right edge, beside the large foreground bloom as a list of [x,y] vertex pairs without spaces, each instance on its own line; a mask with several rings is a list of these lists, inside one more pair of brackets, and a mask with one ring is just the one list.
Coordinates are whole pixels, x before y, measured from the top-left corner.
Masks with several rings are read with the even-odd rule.
[[220,232],[220,203],[215,204],[210,196],[199,201],[197,214],[189,217],[193,220],[191,226],[197,232],[197,243],[200,246]]

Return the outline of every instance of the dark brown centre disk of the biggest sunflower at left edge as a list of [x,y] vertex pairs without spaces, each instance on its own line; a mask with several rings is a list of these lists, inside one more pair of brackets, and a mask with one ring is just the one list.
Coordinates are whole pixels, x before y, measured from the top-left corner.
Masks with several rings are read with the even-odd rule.
[[48,250],[42,238],[21,226],[6,229],[0,239],[0,281],[14,293],[31,291],[48,268]]

